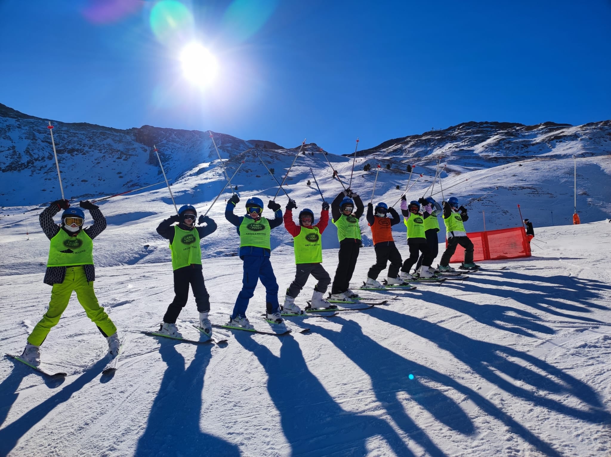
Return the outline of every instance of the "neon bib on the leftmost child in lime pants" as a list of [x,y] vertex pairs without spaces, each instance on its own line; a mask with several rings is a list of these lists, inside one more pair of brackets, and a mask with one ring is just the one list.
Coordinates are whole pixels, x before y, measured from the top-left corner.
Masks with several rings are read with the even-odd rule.
[[93,241],[84,230],[70,236],[60,229],[49,246],[46,266],[93,265]]

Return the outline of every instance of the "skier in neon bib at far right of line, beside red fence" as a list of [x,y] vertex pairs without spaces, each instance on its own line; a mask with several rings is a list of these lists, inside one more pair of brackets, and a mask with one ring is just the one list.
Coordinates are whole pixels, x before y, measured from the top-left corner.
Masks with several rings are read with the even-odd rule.
[[450,258],[454,252],[456,252],[456,246],[460,244],[464,247],[464,261],[463,268],[466,269],[477,269],[479,265],[473,263],[473,243],[467,236],[467,232],[464,230],[464,222],[469,219],[467,215],[467,208],[462,205],[458,206],[458,199],[456,197],[450,197],[444,205],[444,222],[445,222],[445,235],[448,239],[448,247],[445,249],[444,254],[441,256],[439,261],[439,271],[456,271],[450,264]]

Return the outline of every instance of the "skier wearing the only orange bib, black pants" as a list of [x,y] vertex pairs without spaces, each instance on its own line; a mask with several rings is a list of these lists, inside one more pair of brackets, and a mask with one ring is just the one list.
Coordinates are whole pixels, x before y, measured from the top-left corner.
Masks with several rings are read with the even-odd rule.
[[[392,218],[386,216],[390,213]],[[386,278],[389,284],[403,284],[400,279],[399,269],[401,268],[401,254],[395,240],[392,238],[392,226],[401,222],[401,218],[395,208],[389,208],[384,202],[379,202],[375,208],[371,203],[367,205],[367,222],[371,227],[371,236],[373,237],[373,249],[376,251],[376,263],[371,266],[367,273],[367,282],[365,287],[382,287],[376,279],[380,272],[386,268],[387,261],[390,260],[388,269],[388,277]]]

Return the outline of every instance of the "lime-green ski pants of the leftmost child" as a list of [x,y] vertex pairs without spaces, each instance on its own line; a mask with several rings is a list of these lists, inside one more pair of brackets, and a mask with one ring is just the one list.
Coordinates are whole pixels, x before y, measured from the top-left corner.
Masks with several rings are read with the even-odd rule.
[[87,317],[98,326],[104,336],[110,336],[117,331],[117,327],[98,303],[98,299],[93,292],[93,282],[87,282],[85,269],[82,266],[69,266],[66,268],[64,282],[53,284],[49,309],[46,310],[45,315],[27,337],[28,343],[35,346],[42,345],[46,335],[49,334],[51,328],[57,325],[59,318],[68,306],[72,291],[76,291],[76,298],[85,309]]

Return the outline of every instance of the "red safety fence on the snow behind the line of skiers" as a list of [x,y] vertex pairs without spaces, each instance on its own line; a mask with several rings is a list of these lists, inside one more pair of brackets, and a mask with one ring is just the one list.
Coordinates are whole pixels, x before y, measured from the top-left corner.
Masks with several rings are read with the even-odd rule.
[[[467,233],[473,242],[473,261],[503,260],[506,258],[530,257],[530,244],[524,227],[511,229],[487,230],[486,232]],[[448,246],[447,240],[445,246]],[[456,252],[450,263],[464,260],[464,248],[456,246]]]

